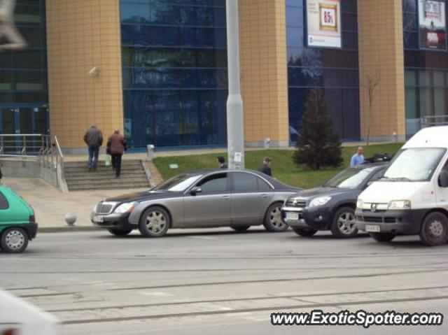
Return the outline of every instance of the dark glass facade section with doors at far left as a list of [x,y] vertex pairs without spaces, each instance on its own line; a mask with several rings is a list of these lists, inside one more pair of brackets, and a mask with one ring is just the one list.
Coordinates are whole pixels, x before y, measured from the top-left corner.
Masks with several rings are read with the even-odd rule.
[[[47,134],[45,1],[18,0],[14,19],[28,45],[0,52],[0,133]],[[8,42],[2,36],[0,43]]]

